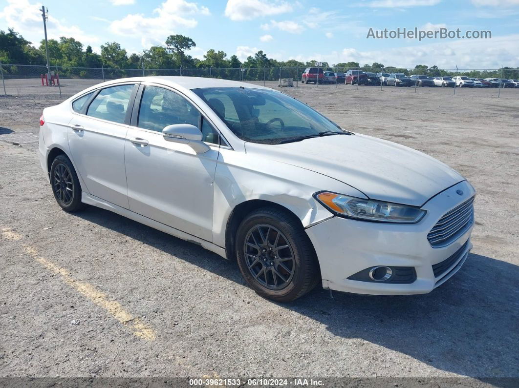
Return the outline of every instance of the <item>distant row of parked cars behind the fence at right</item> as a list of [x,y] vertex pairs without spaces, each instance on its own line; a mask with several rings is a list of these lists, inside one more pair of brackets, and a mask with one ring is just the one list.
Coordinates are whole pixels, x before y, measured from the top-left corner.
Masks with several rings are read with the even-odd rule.
[[519,80],[500,78],[430,77],[423,75],[406,76],[403,73],[369,73],[362,70],[348,70],[346,73],[324,71],[318,67],[307,67],[301,76],[303,83],[346,83],[351,85],[391,85],[444,88],[519,88]]

